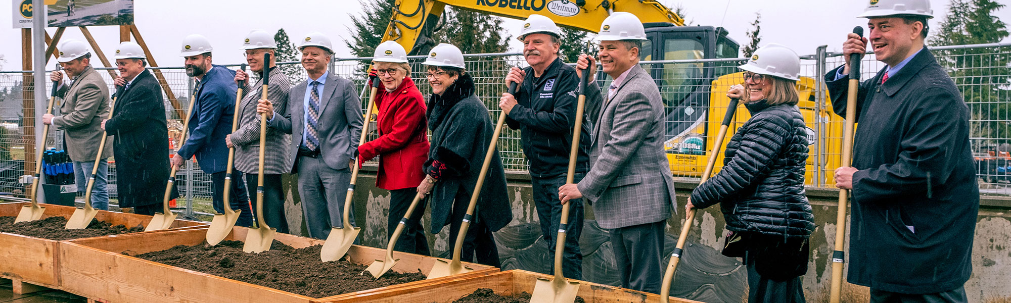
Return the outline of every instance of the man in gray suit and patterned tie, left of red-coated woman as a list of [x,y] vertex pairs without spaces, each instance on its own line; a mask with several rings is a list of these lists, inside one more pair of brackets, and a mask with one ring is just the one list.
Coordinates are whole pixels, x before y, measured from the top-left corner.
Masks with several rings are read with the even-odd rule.
[[[355,85],[327,72],[331,49],[330,38],[309,33],[299,45],[309,79],[291,89],[287,112],[274,115],[270,100],[261,99],[257,106],[258,112],[267,113],[270,127],[292,134],[292,173],[298,173],[305,225],[315,238],[327,238],[331,227],[344,227],[344,199],[351,168],[358,163],[362,131],[362,103]],[[350,220],[354,225],[354,216]]]

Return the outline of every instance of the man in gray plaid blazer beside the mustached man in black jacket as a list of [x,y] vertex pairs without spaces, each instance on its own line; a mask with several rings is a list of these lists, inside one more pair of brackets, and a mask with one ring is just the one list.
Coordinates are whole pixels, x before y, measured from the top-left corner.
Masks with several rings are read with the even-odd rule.
[[[646,39],[639,18],[614,13],[595,39],[604,72],[614,82],[594,121],[589,173],[578,184],[562,186],[558,198],[591,203],[596,222],[611,233],[622,287],[659,293],[665,222],[676,209],[663,152],[663,100],[639,67]],[[587,67],[594,67],[593,60],[583,55],[576,70]]]

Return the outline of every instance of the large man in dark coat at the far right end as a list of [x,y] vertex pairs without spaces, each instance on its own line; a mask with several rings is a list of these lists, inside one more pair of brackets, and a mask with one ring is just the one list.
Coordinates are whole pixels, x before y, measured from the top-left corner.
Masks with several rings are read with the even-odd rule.
[[[826,75],[835,112],[856,110],[859,123],[853,166],[835,171],[852,190],[847,280],[869,287],[870,302],[966,302],[980,200],[969,108],[924,46],[929,2],[871,3],[861,17],[888,67],[860,85],[853,109],[849,66]],[[843,54],[866,43],[850,34]]]

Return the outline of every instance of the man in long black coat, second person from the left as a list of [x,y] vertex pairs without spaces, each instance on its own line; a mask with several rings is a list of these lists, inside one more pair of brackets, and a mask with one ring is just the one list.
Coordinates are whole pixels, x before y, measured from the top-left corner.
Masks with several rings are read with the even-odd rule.
[[[161,211],[169,181],[169,129],[161,86],[146,69],[141,46],[122,42],[116,49],[120,78],[112,117],[102,128],[112,136],[119,207],[154,215]],[[171,199],[179,194],[172,189]]]

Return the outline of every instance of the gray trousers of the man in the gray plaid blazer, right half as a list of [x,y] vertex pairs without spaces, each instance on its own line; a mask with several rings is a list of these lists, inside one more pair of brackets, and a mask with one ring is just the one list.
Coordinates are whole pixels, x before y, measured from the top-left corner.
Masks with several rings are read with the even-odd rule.
[[611,229],[619,281],[622,287],[660,293],[663,280],[663,228],[666,221]]

